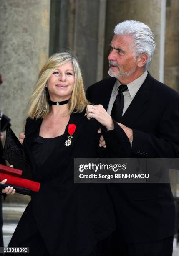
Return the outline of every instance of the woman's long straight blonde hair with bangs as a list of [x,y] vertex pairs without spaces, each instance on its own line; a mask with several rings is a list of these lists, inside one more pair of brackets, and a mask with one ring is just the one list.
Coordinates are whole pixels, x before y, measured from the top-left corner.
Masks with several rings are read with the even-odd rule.
[[38,75],[38,81],[32,96],[30,97],[30,109],[28,115],[31,119],[44,118],[50,113],[49,95],[45,90],[47,81],[56,67],[71,62],[75,73],[75,84],[71,99],[68,102],[68,114],[82,112],[89,104],[86,99],[81,69],[77,59],[71,52],[63,51],[50,56]]

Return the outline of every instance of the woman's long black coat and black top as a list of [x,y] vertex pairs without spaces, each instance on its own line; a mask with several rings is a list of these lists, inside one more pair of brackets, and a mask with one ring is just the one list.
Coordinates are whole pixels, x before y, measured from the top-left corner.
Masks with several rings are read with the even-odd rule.
[[63,135],[48,139],[39,136],[41,123],[27,119],[23,142],[40,190],[31,192],[11,246],[38,230],[50,255],[88,255],[115,230],[116,218],[106,184],[74,183],[74,158],[128,157],[129,139],[114,122],[114,130],[103,130],[107,148],[100,148],[97,131],[103,127],[84,113],[73,113],[68,125],[75,124],[76,131],[67,147],[68,125]]

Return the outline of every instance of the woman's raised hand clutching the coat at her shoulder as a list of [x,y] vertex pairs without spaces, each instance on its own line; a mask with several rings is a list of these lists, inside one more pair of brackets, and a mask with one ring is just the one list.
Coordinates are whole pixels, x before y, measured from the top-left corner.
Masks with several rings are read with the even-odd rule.
[[113,130],[114,128],[114,123],[111,115],[107,113],[102,105],[87,105],[85,115],[88,120],[90,120],[90,118],[95,118],[103,126],[106,126],[107,130]]

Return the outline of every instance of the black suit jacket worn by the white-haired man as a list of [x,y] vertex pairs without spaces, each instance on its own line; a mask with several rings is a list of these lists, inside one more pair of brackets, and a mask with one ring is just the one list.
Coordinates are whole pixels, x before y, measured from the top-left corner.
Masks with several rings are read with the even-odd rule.
[[[116,78],[88,87],[87,99],[107,110]],[[148,73],[119,123],[133,129],[131,158],[178,157],[178,93]],[[121,241],[157,241],[175,233],[170,184],[108,184]]]

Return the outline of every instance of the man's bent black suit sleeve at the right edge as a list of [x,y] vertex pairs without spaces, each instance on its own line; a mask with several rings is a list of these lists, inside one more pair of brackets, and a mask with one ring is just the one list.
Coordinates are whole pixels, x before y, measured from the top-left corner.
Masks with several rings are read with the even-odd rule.
[[178,98],[167,105],[157,135],[133,129],[132,154],[143,157],[178,157]]

